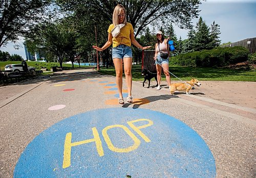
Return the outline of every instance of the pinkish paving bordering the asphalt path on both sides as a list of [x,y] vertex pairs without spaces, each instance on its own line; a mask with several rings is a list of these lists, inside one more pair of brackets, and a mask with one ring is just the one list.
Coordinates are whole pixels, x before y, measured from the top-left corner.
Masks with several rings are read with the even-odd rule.
[[[95,71],[94,69],[68,70],[55,72],[55,76],[66,74],[79,74],[86,71]],[[96,71],[95,71],[96,72]],[[0,87],[0,108],[12,102],[17,97],[29,92],[38,87],[46,80],[32,80],[20,82],[10,86]],[[177,81],[174,81],[177,82]],[[142,86],[142,82],[139,83]],[[162,81],[162,91],[168,93],[167,85]],[[256,120],[256,82],[209,82],[201,81],[201,87],[196,87],[190,90],[190,95],[185,95],[184,92],[175,92],[179,98],[183,98],[185,103],[194,102],[204,106],[215,108],[220,111],[238,114]],[[151,88],[154,90],[155,81],[151,82]],[[145,85],[147,86],[147,84]],[[145,89],[148,90],[148,89]],[[196,105],[197,105],[196,104]],[[219,111],[218,111],[219,112]]]

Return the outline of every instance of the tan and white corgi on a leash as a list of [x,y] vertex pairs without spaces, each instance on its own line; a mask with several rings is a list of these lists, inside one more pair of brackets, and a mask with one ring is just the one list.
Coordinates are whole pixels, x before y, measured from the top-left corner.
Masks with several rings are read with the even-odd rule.
[[175,83],[175,84],[170,84],[170,93],[173,95],[174,91],[186,91],[186,94],[189,94],[189,90],[191,90],[192,87],[194,86],[200,87],[200,82],[196,78],[191,78],[191,81],[185,82],[185,83]]

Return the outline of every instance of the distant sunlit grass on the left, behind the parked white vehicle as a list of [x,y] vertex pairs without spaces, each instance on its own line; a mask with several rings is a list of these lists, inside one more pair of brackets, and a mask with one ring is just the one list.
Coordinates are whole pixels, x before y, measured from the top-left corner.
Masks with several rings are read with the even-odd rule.
[[[6,62],[0,62],[0,69],[3,71],[5,70],[5,66],[8,65],[8,64],[22,64],[21,61],[6,61]],[[27,65],[28,66],[31,66],[31,67],[35,67],[35,70],[40,70],[41,67],[46,67],[49,71],[51,70],[52,66],[57,66],[57,67],[60,67],[59,63],[44,63],[44,62],[27,62]],[[72,68],[72,64],[62,64],[62,67],[69,67],[70,69],[73,69]],[[84,67],[89,67],[89,66],[81,66],[81,68],[84,68]],[[92,66],[90,66],[92,67]],[[79,65],[74,65],[74,68],[79,68]]]

